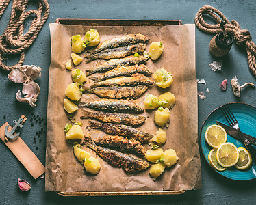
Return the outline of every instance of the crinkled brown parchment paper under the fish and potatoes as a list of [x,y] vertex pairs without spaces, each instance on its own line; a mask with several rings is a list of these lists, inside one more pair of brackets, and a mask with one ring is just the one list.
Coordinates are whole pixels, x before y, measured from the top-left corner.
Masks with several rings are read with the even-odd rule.
[[[71,71],[65,69],[66,61],[71,59],[71,36],[84,35],[92,27],[78,25],[50,24],[51,29],[51,66],[49,68],[49,98],[47,111],[47,153],[46,153],[46,191],[162,191],[191,190],[201,188],[201,167],[197,133],[197,89],[195,70],[195,33],[194,25],[164,27],[94,27],[101,36],[101,42],[126,33],[142,33],[153,41],[164,44],[164,52],[157,61],[146,62],[153,72],[164,67],[172,72],[173,83],[167,89],[151,85],[146,94],[159,96],[164,92],[175,94],[176,103],[170,110],[170,126],[164,128],[167,141],[163,150],[173,148],[179,161],[171,168],[166,168],[162,176],[154,182],[149,176],[149,169],[138,174],[127,174],[123,169],[114,168],[99,157],[101,171],[96,176],[86,173],[83,166],[75,159],[72,144],[65,138],[64,126],[68,120],[63,109],[64,91],[72,82]],[[149,44],[147,50],[149,49]],[[84,57],[84,52],[80,54]],[[99,62],[98,62],[99,63]],[[97,61],[80,68],[92,68]],[[151,77],[152,78],[152,77]],[[86,85],[92,81],[88,79]],[[143,94],[138,101],[144,105]],[[94,94],[83,94],[81,101],[99,99]],[[153,122],[155,111],[146,111],[147,118],[138,130],[155,135],[159,129]],[[83,122],[84,132],[88,120],[80,120],[81,109],[75,113],[77,120]],[[105,135],[101,131],[91,130],[92,138]],[[145,145],[146,150],[150,147]],[[84,146],[84,149],[97,154]]]

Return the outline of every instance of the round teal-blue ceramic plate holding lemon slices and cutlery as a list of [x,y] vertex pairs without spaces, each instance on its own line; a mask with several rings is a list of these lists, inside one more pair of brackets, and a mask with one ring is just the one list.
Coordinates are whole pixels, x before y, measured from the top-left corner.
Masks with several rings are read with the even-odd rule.
[[[229,105],[229,109],[232,111],[233,115],[238,120],[240,130],[243,133],[256,137],[256,107],[253,107],[248,104],[240,103],[240,102],[229,103],[227,105]],[[216,124],[215,120],[218,120],[219,122],[227,124],[227,121],[224,115],[220,111],[220,107],[218,107],[217,109],[212,111],[212,113],[209,114],[209,116],[206,118],[201,128],[201,134],[200,134],[201,150],[208,164],[209,164],[208,154],[209,154],[209,151],[212,150],[212,147],[210,147],[205,141],[205,131],[208,126],[212,124]],[[227,142],[231,142],[237,147],[244,147],[244,144],[241,141],[238,141],[237,139],[231,137],[230,135],[227,135]],[[214,168],[212,167],[212,169]],[[216,169],[214,170],[218,172]],[[218,172],[218,174],[225,176],[227,178],[230,178],[232,180],[240,180],[240,181],[252,180],[256,178],[256,165],[255,163],[253,163],[253,167],[246,169],[244,171],[235,169],[235,167],[228,167],[225,171]]]

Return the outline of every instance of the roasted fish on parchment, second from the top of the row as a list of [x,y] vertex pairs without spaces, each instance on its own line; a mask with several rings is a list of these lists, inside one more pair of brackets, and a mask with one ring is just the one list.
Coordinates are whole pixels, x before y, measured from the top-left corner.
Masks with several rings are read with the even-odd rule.
[[121,58],[133,53],[142,53],[146,49],[146,44],[134,44],[125,47],[117,47],[114,49],[107,49],[95,54],[86,54],[85,57],[88,58],[86,62],[90,62],[94,59],[112,59]]

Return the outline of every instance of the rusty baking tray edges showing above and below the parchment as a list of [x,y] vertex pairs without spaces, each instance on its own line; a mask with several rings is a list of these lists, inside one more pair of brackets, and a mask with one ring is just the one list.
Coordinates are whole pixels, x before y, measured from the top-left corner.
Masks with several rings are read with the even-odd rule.
[[[90,26],[166,26],[182,25],[181,20],[124,20],[124,19],[68,19],[57,18],[55,23],[65,25],[90,25]],[[57,192],[62,196],[121,196],[121,195],[179,195],[179,191],[86,191],[86,192]]]

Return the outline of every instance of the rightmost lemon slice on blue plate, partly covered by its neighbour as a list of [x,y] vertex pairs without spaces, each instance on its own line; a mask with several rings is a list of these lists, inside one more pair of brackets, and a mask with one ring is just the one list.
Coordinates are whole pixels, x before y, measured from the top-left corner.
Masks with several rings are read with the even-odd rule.
[[252,164],[252,158],[251,154],[243,147],[238,148],[239,152],[239,159],[238,163],[236,163],[235,168],[244,170],[248,169],[248,167],[251,167]]

